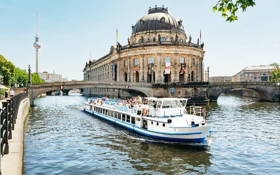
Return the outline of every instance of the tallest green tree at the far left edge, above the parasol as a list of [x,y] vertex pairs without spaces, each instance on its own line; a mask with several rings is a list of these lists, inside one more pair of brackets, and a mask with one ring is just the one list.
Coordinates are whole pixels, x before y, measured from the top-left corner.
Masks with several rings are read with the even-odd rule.
[[10,86],[14,77],[15,66],[0,55],[0,75],[3,76],[2,82],[5,86]]

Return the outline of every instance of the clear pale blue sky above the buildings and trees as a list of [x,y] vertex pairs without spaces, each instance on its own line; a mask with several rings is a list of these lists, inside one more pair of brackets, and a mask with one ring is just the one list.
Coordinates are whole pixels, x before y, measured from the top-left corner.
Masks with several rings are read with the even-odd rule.
[[217,0],[0,0],[0,54],[15,66],[35,72],[35,16],[39,24],[39,72],[82,80],[86,61],[122,45],[148,7],[168,6],[193,41],[202,32],[205,67],[211,76],[232,76],[247,66],[280,63],[279,0],[256,0],[226,22],[212,12]]

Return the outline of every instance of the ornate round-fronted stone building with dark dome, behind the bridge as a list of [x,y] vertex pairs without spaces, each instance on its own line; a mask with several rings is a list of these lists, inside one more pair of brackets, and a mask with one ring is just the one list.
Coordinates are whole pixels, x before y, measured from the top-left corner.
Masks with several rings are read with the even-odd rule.
[[132,25],[128,44],[117,43],[102,58],[86,63],[84,80],[203,81],[204,53],[203,44],[194,44],[191,36],[187,37],[182,20],[169,14],[167,7],[155,6]]

